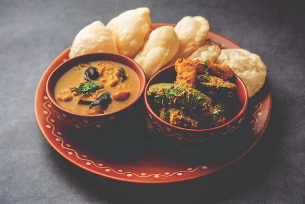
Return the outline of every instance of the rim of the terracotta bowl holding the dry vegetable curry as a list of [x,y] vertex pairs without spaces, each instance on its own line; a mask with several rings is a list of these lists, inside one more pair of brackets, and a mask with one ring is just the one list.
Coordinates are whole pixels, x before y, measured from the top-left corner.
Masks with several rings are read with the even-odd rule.
[[147,91],[148,91],[148,88],[150,86],[150,83],[155,80],[159,74],[161,74],[162,72],[164,72],[165,70],[167,69],[171,69],[171,68],[174,68],[174,64],[172,65],[169,65],[163,69],[161,69],[160,71],[158,71],[156,74],[154,74],[152,76],[152,78],[147,82],[146,84],[146,87],[145,87],[145,94],[144,94],[144,102],[145,102],[145,107],[149,110],[149,114],[152,114],[154,118],[156,118],[156,120],[158,122],[161,122],[161,123],[165,123],[166,125],[168,125],[170,128],[176,128],[178,130],[181,130],[181,131],[192,131],[192,132],[208,132],[208,131],[214,131],[214,130],[217,130],[217,129],[221,129],[223,127],[226,127],[228,126],[230,123],[232,123],[233,121],[236,121],[238,118],[240,118],[243,114],[246,113],[247,111],[247,107],[248,107],[248,101],[249,101],[249,98],[248,98],[248,89],[247,89],[247,86],[245,84],[245,82],[236,74],[233,72],[234,74],[234,77],[236,78],[236,80],[238,80],[241,84],[242,84],[242,87],[243,87],[243,94],[245,95],[246,99],[245,99],[245,102],[241,105],[241,107],[239,108],[239,111],[238,113],[231,119],[229,120],[228,122],[222,124],[222,125],[219,125],[219,126],[216,126],[216,127],[212,127],[212,128],[206,128],[206,129],[190,129],[190,128],[184,128],[184,127],[179,127],[179,126],[175,126],[175,125],[172,125],[171,123],[169,122],[165,122],[163,121],[152,109],[152,106],[148,100],[148,96],[147,96]]

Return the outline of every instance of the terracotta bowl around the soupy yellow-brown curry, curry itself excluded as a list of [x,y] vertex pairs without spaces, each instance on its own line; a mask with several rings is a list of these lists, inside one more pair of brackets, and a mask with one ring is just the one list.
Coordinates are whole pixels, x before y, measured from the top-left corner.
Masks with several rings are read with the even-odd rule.
[[[62,108],[55,99],[55,85],[58,79],[69,69],[78,65],[80,62],[91,61],[114,61],[119,62],[132,68],[140,81],[140,88],[135,99],[127,104],[125,107],[109,113],[102,113],[96,115],[77,114]],[[120,54],[114,53],[91,53],[75,58],[69,59],[61,63],[49,76],[46,83],[47,96],[50,99],[52,109],[60,119],[60,121],[67,127],[77,131],[86,131],[88,133],[103,133],[105,130],[111,130],[123,123],[133,114],[138,111],[137,103],[141,100],[145,85],[146,76],[141,68],[135,61]]]

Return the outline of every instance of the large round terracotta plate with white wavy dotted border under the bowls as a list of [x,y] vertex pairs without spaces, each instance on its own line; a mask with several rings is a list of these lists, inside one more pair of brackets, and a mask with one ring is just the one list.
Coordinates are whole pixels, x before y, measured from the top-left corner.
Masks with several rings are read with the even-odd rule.
[[[154,23],[152,29],[165,23]],[[173,24],[170,24],[174,26]],[[208,38],[223,48],[241,48],[236,43],[209,32]],[[133,183],[171,183],[195,179],[225,168],[242,158],[261,139],[271,112],[271,91],[266,79],[263,88],[250,99],[241,127],[225,148],[211,156],[209,150],[167,143],[146,129],[145,115],[139,111],[134,121],[101,136],[82,135],[66,128],[53,114],[46,94],[49,74],[68,59],[64,50],[46,69],[37,88],[35,112],[39,128],[51,146],[76,166],[110,179]],[[87,140],[91,138],[90,140]],[[168,151],[169,150],[169,151]],[[196,155],[193,157],[191,155]]]

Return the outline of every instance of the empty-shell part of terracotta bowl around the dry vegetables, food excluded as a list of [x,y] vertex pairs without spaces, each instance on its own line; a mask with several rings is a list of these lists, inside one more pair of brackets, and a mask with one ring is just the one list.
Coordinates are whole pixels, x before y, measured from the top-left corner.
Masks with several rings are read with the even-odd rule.
[[239,109],[236,116],[229,122],[208,129],[188,129],[172,125],[160,119],[158,113],[154,111],[153,105],[146,93],[152,84],[159,82],[174,82],[175,78],[176,72],[174,70],[174,65],[171,65],[156,73],[149,80],[145,88],[144,100],[146,111],[152,125],[160,133],[159,135],[161,135],[163,139],[183,146],[203,146],[212,143],[215,144],[218,141],[227,139],[239,128],[244,120],[248,106],[248,91],[245,83],[235,74],[234,78],[235,84],[237,85],[236,93]]

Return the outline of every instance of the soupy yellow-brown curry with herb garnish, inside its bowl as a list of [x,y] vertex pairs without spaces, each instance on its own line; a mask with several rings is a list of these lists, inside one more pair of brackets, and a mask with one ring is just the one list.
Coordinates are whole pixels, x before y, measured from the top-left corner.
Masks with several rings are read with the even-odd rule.
[[132,102],[140,80],[130,67],[114,61],[80,63],[63,74],[55,86],[57,103],[78,114],[102,114]]

